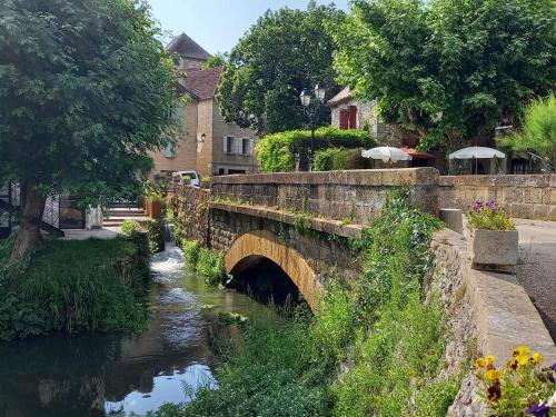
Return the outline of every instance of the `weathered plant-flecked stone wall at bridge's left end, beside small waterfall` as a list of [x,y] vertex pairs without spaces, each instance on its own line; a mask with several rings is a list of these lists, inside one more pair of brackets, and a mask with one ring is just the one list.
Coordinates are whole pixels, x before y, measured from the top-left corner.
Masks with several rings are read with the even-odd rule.
[[168,191],[167,208],[173,214],[185,239],[208,246],[209,200],[210,191],[198,187],[182,185]]

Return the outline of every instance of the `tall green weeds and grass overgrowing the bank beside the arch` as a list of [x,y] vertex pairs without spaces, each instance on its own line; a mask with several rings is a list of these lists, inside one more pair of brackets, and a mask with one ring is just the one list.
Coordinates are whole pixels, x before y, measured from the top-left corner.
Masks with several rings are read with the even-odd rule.
[[446,339],[438,294],[425,278],[435,218],[390,193],[353,242],[359,277],[330,280],[314,317],[245,326],[242,344],[178,416],[444,416],[461,375],[438,377]]

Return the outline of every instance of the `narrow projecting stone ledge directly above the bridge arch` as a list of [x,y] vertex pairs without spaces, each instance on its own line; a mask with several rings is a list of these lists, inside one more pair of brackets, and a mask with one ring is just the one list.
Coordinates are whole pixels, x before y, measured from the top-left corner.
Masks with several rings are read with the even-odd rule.
[[[290,211],[277,210],[264,206],[247,206],[231,202],[211,201],[210,208],[216,210],[231,211],[240,215],[260,217],[287,225],[295,225],[299,216]],[[328,235],[337,235],[345,238],[358,239],[361,236],[363,225],[344,225],[340,220],[325,219],[321,217],[306,217],[304,221],[316,231]]]

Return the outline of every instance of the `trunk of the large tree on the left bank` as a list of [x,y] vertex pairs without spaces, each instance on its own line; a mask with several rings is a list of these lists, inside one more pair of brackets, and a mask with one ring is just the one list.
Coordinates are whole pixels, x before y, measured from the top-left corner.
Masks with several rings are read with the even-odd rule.
[[11,262],[23,259],[24,255],[42,242],[40,224],[44,211],[47,198],[41,196],[33,186],[27,185],[21,188],[24,192],[23,210],[19,225],[18,237],[11,252]]

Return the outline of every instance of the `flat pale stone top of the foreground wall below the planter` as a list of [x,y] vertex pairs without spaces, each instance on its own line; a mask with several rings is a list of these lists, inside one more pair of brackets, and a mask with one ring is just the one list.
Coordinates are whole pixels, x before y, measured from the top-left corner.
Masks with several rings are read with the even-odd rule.
[[453,246],[467,264],[465,279],[481,354],[495,355],[496,365],[504,367],[510,349],[525,345],[543,355],[545,364],[556,361],[556,346],[514,274],[470,269],[468,241],[453,230],[436,231],[433,241]]

